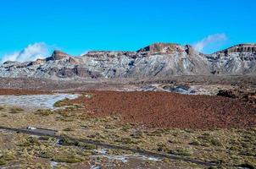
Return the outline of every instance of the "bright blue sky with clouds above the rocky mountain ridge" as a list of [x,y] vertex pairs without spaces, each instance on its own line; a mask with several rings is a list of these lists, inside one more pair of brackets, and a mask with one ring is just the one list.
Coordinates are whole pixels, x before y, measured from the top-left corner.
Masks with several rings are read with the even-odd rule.
[[0,60],[58,49],[136,51],[154,42],[204,53],[256,42],[255,0],[0,0]]

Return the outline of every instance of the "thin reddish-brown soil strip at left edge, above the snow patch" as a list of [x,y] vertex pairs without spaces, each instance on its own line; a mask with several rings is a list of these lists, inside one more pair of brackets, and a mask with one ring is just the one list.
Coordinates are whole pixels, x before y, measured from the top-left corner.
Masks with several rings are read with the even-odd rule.
[[52,92],[41,91],[41,90],[0,89],[0,95],[43,95],[43,94],[52,94]]

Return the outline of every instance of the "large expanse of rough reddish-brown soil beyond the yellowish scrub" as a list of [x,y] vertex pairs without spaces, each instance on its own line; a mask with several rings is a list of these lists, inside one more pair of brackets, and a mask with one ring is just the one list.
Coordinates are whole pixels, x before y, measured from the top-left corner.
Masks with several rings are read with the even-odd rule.
[[167,92],[92,91],[84,103],[92,116],[118,115],[148,128],[248,128],[256,126],[256,107],[236,99]]

